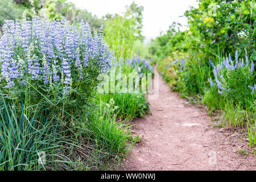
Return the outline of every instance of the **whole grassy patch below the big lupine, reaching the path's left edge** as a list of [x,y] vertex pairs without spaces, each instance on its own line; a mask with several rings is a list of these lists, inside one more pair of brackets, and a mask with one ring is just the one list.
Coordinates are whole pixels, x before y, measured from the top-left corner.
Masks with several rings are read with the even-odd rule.
[[[133,137],[129,125],[117,121],[113,108],[92,97],[84,111],[74,112],[75,106],[53,106],[53,100],[42,93],[38,103],[32,104],[34,95],[28,93],[39,90],[30,89],[34,92],[15,98],[1,92],[1,170],[118,167]],[[38,163],[40,151],[46,152],[43,166]]]

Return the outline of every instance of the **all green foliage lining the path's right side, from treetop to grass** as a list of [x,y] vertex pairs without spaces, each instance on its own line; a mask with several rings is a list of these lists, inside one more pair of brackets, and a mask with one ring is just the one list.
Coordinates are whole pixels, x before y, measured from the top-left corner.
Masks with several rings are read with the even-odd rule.
[[[153,40],[151,47],[160,73],[173,90],[192,101],[203,98],[209,111],[220,110],[222,120],[229,125],[242,127],[246,122],[251,146],[255,137],[255,68],[250,66],[256,60],[255,10],[254,0],[200,0],[197,8],[192,7],[184,14],[189,30],[181,31],[180,25],[173,23],[166,34]],[[222,57],[231,60],[225,54],[234,55],[236,50],[241,60],[236,55],[236,61],[226,62],[246,66],[234,70],[214,68],[220,69],[221,75],[210,87],[209,80],[216,78],[212,65],[225,67]],[[182,64],[185,66],[180,69]]]

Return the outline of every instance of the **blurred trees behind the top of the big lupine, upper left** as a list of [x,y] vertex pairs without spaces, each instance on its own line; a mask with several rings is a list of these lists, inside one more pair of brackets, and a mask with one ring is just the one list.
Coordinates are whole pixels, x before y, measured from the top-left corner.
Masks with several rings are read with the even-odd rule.
[[[71,23],[78,24],[82,19],[88,22],[92,28],[100,28],[102,19],[87,10],[81,10],[74,3],[67,0],[34,0],[36,13],[46,14],[49,19],[66,17]],[[11,10],[11,11],[10,11]],[[0,1],[0,27],[5,19],[20,19],[23,11],[32,17],[31,3],[28,0],[1,0]]]

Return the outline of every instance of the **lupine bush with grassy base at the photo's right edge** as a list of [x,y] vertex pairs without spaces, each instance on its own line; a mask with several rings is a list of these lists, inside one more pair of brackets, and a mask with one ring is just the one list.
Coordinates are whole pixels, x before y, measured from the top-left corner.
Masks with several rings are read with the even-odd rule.
[[225,120],[231,125],[243,126],[244,121],[254,125],[255,72],[254,62],[246,57],[233,61],[226,57],[220,64],[213,65],[214,80],[209,78],[210,88],[205,89],[203,103],[209,109],[224,110]]

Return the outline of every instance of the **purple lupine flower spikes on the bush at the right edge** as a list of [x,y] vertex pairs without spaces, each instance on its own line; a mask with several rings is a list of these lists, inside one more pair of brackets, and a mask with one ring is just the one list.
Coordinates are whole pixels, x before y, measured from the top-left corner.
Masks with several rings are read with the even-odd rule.
[[[212,63],[212,61],[209,59],[209,63],[210,65],[212,65],[213,67],[213,75],[215,77],[215,82],[217,84],[218,87],[218,93],[219,94],[223,94],[223,90],[229,92],[231,89],[227,89],[223,86],[222,83],[225,83],[225,79],[223,77],[223,75],[221,75],[221,70],[222,69],[226,69],[226,70],[236,70],[237,68],[241,68],[241,67],[247,67],[250,69],[250,73],[251,75],[253,75],[254,73],[254,62],[253,60],[251,60],[250,64],[249,64],[249,59],[248,56],[245,55],[245,63],[243,59],[238,59],[238,51],[236,51],[235,53],[235,60],[233,61],[231,56],[229,55],[229,57],[224,57],[222,63],[218,64],[218,65],[214,65],[214,63]],[[210,78],[210,86],[214,86],[212,79]],[[222,82],[222,83],[221,83]],[[249,88],[251,90],[256,90],[256,85],[250,86]]]

